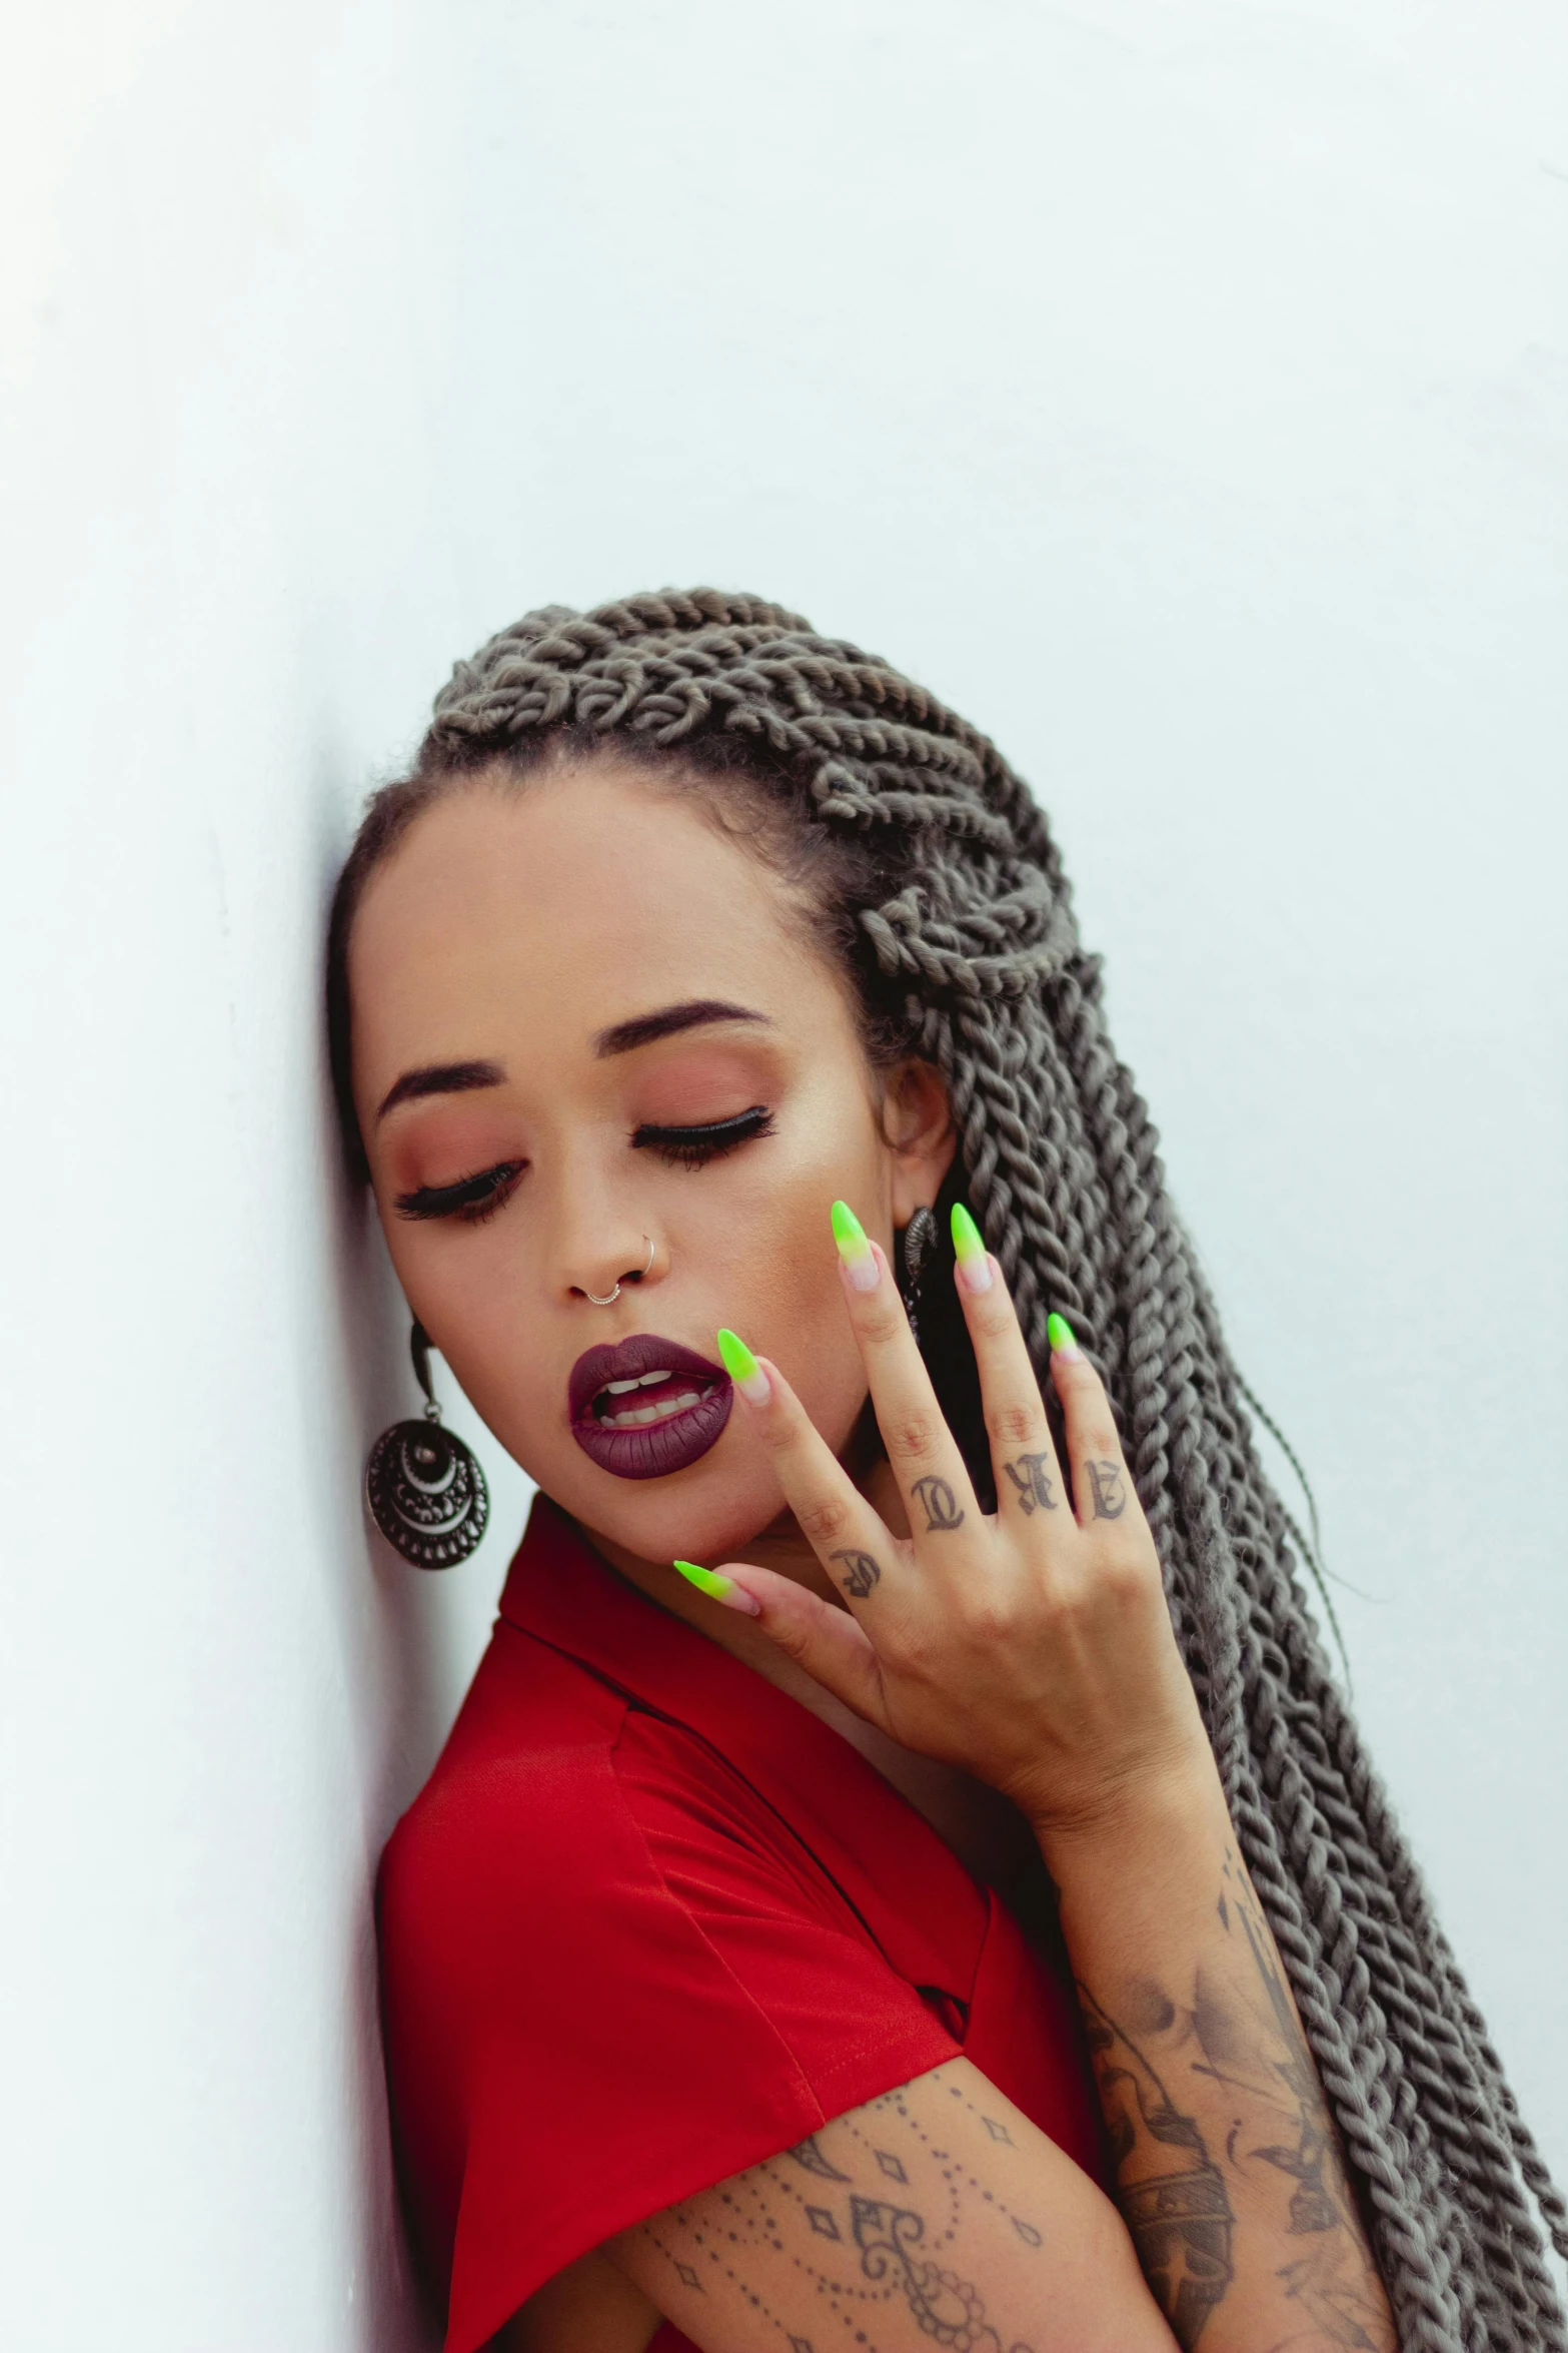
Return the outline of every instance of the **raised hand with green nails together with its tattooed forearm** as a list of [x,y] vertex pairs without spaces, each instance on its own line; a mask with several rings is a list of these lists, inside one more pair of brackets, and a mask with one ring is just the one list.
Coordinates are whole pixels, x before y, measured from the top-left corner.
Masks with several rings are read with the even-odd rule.
[[889,1532],[773,1365],[752,1365],[726,1334],[731,1379],[846,1609],[743,1562],[708,1591],[755,1607],[790,1657],[905,1748],[966,1765],[1027,1817],[1058,1889],[1117,2198],[1173,2339],[1201,2332],[1206,2353],[1352,2341],[1394,2353],[1105,1391],[1053,1318],[1067,1489],[1001,1268],[954,1217],[997,1471],[987,1518],[884,1254],[842,1209],[835,1228],[912,1534]]

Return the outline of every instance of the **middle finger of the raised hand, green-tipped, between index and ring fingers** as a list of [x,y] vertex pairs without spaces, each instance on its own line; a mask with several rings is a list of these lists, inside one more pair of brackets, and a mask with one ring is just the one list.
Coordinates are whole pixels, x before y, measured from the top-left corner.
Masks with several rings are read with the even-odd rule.
[[842,1200],[832,1205],[832,1238],[839,1247],[844,1299],[865,1365],[877,1428],[910,1511],[910,1534],[922,1546],[922,1558],[936,1560],[936,1551],[926,1555],[924,1539],[936,1541],[959,1527],[973,1529],[980,1506],[969,1485],[959,1445],[936,1402],[931,1374],[910,1332],[910,1318],[903,1311],[889,1261]]

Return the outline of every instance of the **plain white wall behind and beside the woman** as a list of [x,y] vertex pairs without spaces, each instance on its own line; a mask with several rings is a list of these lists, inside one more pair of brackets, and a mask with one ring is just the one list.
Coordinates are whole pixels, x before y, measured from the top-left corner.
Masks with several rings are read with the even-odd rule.
[[411,1386],[317,929],[451,656],[663,581],[893,654],[1053,809],[1568,2172],[1561,9],[78,0],[12,45],[5,2344],[425,2341],[367,1887],[505,1544],[437,1586],[362,1532]]

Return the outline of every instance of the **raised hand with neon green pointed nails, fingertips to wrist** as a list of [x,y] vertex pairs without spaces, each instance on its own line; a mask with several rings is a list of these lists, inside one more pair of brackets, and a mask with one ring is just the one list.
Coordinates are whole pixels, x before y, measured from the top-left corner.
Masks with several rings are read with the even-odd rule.
[[[693,1579],[905,1748],[964,1765],[1058,1840],[1150,1795],[1215,1781],[1161,1591],[1154,1539],[1105,1388],[1060,1318],[1051,1379],[1072,1480],[1051,1440],[1001,1268],[954,1212],[997,1511],[980,1511],[884,1252],[835,1207],[844,1294],[905,1499],[893,1537],[780,1372],[722,1334],[726,1365],[804,1537],[846,1609],[788,1577],[724,1562]],[[1074,1508],[1077,1506],[1077,1508]],[[738,1588],[738,1591],[736,1591]]]

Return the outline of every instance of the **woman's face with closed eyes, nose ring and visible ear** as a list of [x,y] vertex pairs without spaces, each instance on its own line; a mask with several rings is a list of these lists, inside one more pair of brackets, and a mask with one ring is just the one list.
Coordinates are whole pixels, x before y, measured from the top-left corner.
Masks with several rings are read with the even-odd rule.
[[715,1329],[846,1449],[865,1379],[827,1212],[842,1195],[886,1247],[933,1200],[936,1075],[879,1080],[778,878],[614,765],[428,809],[348,974],[393,1264],[473,1405],[625,1551],[745,1546],[783,1499]]

